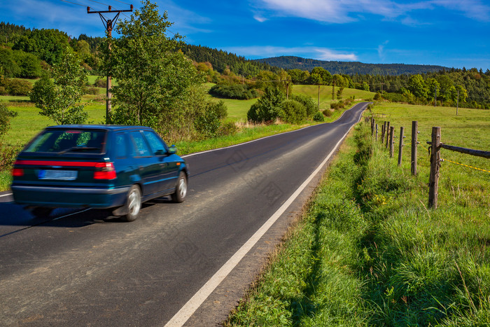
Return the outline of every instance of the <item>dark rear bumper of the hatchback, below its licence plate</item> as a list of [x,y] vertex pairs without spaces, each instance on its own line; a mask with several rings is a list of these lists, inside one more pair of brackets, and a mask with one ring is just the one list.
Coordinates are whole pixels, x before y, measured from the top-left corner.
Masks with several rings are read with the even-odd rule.
[[73,188],[53,186],[11,186],[15,203],[42,207],[93,207],[106,209],[124,204],[129,187]]

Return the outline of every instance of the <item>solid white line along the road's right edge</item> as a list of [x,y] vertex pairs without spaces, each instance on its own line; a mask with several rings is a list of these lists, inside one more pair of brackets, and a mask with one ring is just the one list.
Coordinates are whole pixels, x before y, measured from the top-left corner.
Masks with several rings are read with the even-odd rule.
[[[362,115],[362,113],[363,111],[360,112],[358,120],[360,120],[360,116]],[[225,279],[228,274],[230,274],[230,272],[233,270],[233,268],[235,268],[239,261],[244,258],[246,253],[248,253],[248,251],[252,249],[252,247],[265,234],[265,232],[269,230],[269,228],[276,222],[281,214],[283,214],[284,211],[288,209],[290,204],[293,203],[298,195],[300,195],[302,190],[307,187],[311,179],[313,179],[314,176],[318,174],[318,172],[320,172],[321,168],[328,162],[332,154],[337,150],[342,141],[344,141],[345,137],[347,136],[347,134],[349,134],[351,129],[352,127],[344,134],[342,139],[340,139],[337,144],[335,144],[335,147],[332,149],[332,151],[330,151],[330,153],[328,153],[325,160],[323,160],[323,162],[321,162],[321,164],[315,169],[315,171],[311,173],[311,175],[309,175],[308,179],[304,181],[299,188],[297,188],[295,193],[293,193],[293,195],[291,195],[288,200],[279,209],[277,209],[277,211],[264,223],[264,225],[262,225],[262,227],[260,227],[260,229],[257,230],[257,232],[255,232],[255,234],[252,235],[252,237],[250,237],[250,239],[248,239],[248,241],[243,246],[241,246],[241,248],[223,265],[223,267],[221,267],[220,270],[218,270],[218,272],[216,272],[216,274],[214,274],[214,276],[211,277],[211,279],[209,279],[209,281],[207,281],[207,283],[204,284],[204,286],[202,286],[202,288],[197,291],[197,293],[195,293],[195,295],[190,298],[190,300],[188,300],[186,305],[184,305],[179,310],[179,312],[177,312],[172,317],[172,319],[170,319],[169,322],[165,324],[165,326],[183,326],[183,324],[188,321],[190,316],[192,316],[197,308],[202,305],[204,300],[206,300],[209,295],[211,295],[211,293],[216,287],[218,287],[221,281],[223,281],[223,279]]]

